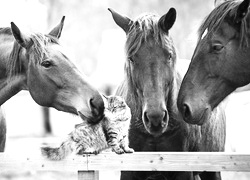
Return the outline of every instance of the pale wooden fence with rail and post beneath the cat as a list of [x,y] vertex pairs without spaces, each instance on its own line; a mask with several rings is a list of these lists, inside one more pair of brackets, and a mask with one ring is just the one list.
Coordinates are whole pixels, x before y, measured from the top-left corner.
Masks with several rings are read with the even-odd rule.
[[250,172],[250,154],[208,152],[136,152],[117,155],[70,156],[50,161],[40,154],[0,153],[0,172],[10,170],[73,171],[79,180],[98,180],[99,171],[244,171]]

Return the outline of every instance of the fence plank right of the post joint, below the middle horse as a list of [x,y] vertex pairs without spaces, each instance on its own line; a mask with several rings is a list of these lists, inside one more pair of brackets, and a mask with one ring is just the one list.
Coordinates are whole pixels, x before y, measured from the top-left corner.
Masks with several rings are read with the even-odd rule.
[[155,152],[88,156],[88,170],[250,171],[250,154]]

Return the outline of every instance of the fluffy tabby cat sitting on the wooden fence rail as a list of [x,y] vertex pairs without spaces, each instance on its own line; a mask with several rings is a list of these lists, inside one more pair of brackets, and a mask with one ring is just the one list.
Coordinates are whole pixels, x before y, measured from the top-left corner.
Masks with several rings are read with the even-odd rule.
[[58,148],[42,147],[42,154],[51,160],[61,160],[75,154],[94,153],[112,148],[117,154],[132,153],[128,147],[131,111],[119,96],[104,96],[104,118],[98,124],[81,123]]

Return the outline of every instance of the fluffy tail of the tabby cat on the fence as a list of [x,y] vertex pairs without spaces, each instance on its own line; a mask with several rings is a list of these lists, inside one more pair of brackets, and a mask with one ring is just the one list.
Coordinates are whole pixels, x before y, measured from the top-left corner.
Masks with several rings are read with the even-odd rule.
[[60,147],[42,147],[42,155],[50,160],[62,160],[73,152],[72,141],[65,141]]

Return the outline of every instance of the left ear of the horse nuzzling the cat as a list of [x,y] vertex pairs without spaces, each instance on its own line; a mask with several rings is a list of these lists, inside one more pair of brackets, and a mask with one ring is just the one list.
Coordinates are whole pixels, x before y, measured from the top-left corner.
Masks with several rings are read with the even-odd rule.
[[28,49],[32,45],[32,40],[25,36],[20,29],[15,25],[15,23],[11,22],[11,31],[16,39],[16,41],[24,48]]

